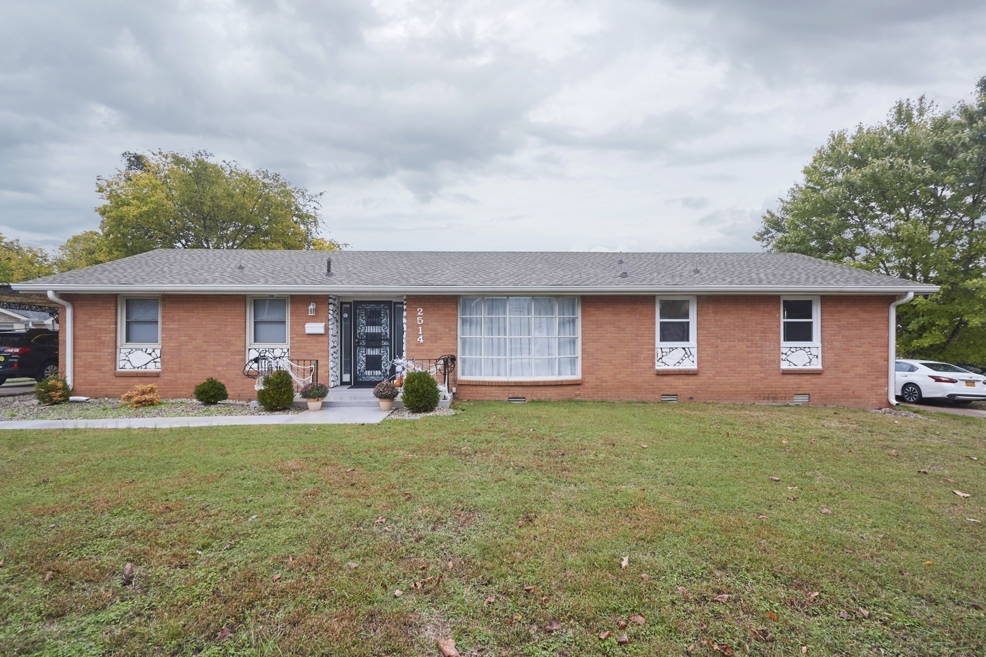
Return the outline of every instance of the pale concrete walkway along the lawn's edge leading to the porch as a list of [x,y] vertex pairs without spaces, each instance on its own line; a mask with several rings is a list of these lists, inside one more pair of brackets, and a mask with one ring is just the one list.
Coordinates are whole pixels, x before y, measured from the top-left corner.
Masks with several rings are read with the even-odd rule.
[[240,424],[376,424],[387,417],[379,406],[342,406],[291,415],[204,415],[119,419],[5,420],[0,429],[175,429]]

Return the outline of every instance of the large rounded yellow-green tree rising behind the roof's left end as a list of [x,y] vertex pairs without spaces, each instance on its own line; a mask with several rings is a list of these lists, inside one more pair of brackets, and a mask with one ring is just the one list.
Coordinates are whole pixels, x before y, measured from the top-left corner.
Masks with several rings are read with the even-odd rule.
[[105,201],[96,211],[110,259],[162,248],[341,246],[316,237],[321,194],[279,174],[215,162],[204,151],[124,153],[123,159],[124,169],[96,185]]

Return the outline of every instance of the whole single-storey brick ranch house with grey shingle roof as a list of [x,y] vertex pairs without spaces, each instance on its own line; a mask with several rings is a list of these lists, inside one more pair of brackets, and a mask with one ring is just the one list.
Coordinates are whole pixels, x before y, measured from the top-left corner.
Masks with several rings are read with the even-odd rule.
[[893,402],[895,306],[938,289],[796,254],[214,250],[14,287],[61,304],[61,370],[89,397],[216,377],[253,399],[258,354],[369,387],[453,354],[464,400],[871,408]]

